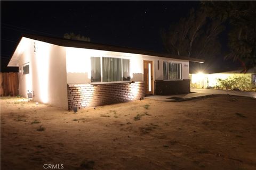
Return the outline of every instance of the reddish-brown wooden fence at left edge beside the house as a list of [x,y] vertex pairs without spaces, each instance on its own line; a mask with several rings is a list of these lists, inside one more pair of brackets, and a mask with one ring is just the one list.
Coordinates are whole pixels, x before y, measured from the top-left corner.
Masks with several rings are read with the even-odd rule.
[[1,96],[19,94],[19,73],[1,73]]

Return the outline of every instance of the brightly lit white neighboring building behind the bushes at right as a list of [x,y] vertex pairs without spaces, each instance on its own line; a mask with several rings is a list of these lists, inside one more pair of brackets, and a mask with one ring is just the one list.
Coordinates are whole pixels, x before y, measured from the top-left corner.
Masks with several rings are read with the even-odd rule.
[[225,80],[227,78],[237,78],[237,77],[244,77],[250,83],[256,84],[255,81],[255,73],[256,67],[248,70],[246,73],[242,73],[242,69],[227,71],[227,72],[220,72],[220,73],[213,73],[213,74],[205,74],[205,73],[196,73],[196,74],[189,74],[190,77],[190,86],[195,88],[207,88],[207,87],[217,87],[220,84],[218,83],[218,79]]

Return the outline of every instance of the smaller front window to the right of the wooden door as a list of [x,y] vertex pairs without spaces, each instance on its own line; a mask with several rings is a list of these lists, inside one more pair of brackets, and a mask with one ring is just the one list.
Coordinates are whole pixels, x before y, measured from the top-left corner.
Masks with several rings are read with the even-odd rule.
[[163,78],[164,80],[181,80],[182,67],[181,63],[163,62]]

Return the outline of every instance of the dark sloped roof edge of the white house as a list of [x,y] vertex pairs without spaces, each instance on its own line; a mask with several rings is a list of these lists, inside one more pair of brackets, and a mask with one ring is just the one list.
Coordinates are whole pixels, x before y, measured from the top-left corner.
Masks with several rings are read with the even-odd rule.
[[[22,37],[26,37],[26,38],[30,38],[30,39],[34,39],[34,40],[39,40],[39,41],[43,41],[45,43],[50,43],[50,44],[63,46],[63,47],[98,49],[98,50],[106,50],[106,51],[111,51],[111,52],[142,54],[142,55],[174,58],[174,59],[178,59],[178,60],[187,60],[187,61],[191,61],[191,62],[204,63],[204,60],[201,60],[201,59],[198,59],[198,58],[171,55],[171,54],[167,54],[167,53],[155,53],[155,52],[147,51],[147,50],[133,49],[133,48],[127,48],[127,47],[118,47],[118,46],[98,44],[98,43],[91,43],[91,42],[87,42],[87,41],[70,40],[70,39],[39,36],[39,35],[32,35],[32,34],[23,34],[21,36],[21,38]],[[20,40],[21,40],[21,38],[20,38]]]

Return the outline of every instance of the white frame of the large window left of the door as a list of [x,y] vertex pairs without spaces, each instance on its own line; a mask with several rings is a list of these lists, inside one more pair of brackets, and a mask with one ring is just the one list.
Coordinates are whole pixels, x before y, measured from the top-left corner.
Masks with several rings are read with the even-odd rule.
[[[99,57],[99,56],[92,56],[92,57]],[[121,81],[103,82],[103,61],[102,61],[103,57],[121,58]],[[132,78],[131,78],[130,81],[123,81],[123,59],[129,60],[129,62],[130,62],[130,78],[131,78],[131,58],[130,57],[105,55],[105,56],[100,56],[100,77],[101,77],[101,81],[100,82],[91,82],[91,80],[90,80],[91,84],[113,84],[113,83],[130,83],[130,82],[132,82]]]

